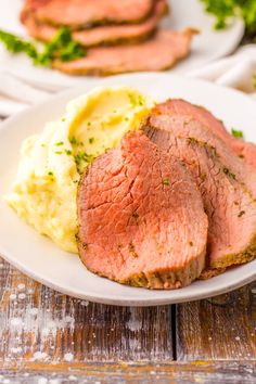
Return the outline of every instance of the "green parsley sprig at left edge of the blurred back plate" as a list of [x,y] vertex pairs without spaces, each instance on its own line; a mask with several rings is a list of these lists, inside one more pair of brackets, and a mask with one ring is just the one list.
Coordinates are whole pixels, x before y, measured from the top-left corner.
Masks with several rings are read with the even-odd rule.
[[37,44],[0,29],[0,42],[13,54],[25,53],[35,65],[49,66],[57,59],[62,62],[86,55],[85,49],[73,40],[68,28],[60,28],[53,39],[38,49]]

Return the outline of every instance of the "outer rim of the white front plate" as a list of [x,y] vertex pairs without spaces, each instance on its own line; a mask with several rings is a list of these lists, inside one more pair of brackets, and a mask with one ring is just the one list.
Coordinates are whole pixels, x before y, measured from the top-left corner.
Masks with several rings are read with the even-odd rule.
[[[219,85],[215,85],[213,82],[209,82],[209,81],[206,81],[206,80],[199,80],[199,79],[192,79],[192,78],[184,78],[183,76],[178,76],[178,75],[172,75],[172,74],[166,74],[166,73],[144,73],[144,74],[129,74],[129,75],[117,75],[117,76],[113,76],[111,78],[107,78],[106,80],[107,81],[112,81],[113,78],[126,78],[126,77],[154,77],[154,80],[156,81],[156,78],[165,78],[165,77],[168,77],[169,79],[168,80],[171,80],[171,78],[176,78],[178,81],[181,80],[181,81],[188,81],[190,84],[202,84],[204,86],[207,86],[207,87],[210,87],[210,88],[215,88],[219,91],[225,91],[225,92],[228,92],[228,93],[236,93],[239,94],[240,97],[246,99],[246,102],[249,102],[252,103],[252,107],[255,106],[255,101],[252,100],[248,95],[244,94],[243,92],[241,91],[238,91],[238,90],[233,90],[233,89],[229,89],[229,88],[226,88],[226,87],[222,87],[222,86],[219,86]],[[152,80],[153,81],[153,80]],[[94,82],[103,82],[101,79],[95,79]],[[66,99],[66,98],[72,98],[74,97],[74,93],[80,93],[82,92],[82,89],[85,87],[87,87],[88,85],[81,85],[79,87],[75,87],[75,88],[72,88],[69,90],[65,90],[63,92],[60,92],[55,95],[52,95],[50,97],[47,101],[38,104],[38,105],[34,105],[33,107],[29,107],[27,108],[26,111],[23,111],[18,114],[16,114],[15,116],[12,116],[10,118],[8,118],[7,120],[4,120],[3,123],[1,123],[0,125],[0,135],[2,132],[2,130],[4,129],[9,129],[9,126],[12,126],[12,125],[15,125],[21,118],[23,117],[26,117],[26,115],[29,116],[29,114],[34,114],[37,110],[40,110],[40,108],[43,108],[46,107],[47,105],[50,105],[51,102],[53,100],[55,100],[56,102],[59,100],[62,100],[62,99]],[[90,85],[91,87],[94,87],[94,85]],[[85,92],[85,90],[84,90]],[[33,270],[30,270],[29,267],[26,267],[23,265],[23,263],[16,258],[15,256],[13,255],[10,255],[9,252],[5,252],[5,249],[2,247],[1,243],[0,243],[0,254],[1,256],[7,260],[9,261],[11,265],[13,265],[15,268],[17,268],[18,270],[21,270],[23,273],[31,277],[33,279],[35,279],[36,281],[39,281],[40,283],[47,285],[47,286],[50,286],[51,289],[57,291],[57,292],[61,292],[63,294],[67,294],[67,295],[71,295],[71,296],[75,296],[75,297],[78,297],[78,298],[81,298],[81,299],[88,299],[88,300],[92,300],[92,302],[95,302],[95,303],[104,303],[104,304],[110,304],[110,305],[121,305],[121,306],[155,306],[155,305],[164,305],[164,304],[175,304],[175,303],[184,303],[184,302],[192,302],[192,300],[197,300],[197,299],[202,299],[202,298],[205,298],[205,297],[213,297],[213,296],[216,296],[216,295],[219,295],[219,294],[222,294],[222,293],[227,293],[227,292],[230,292],[234,289],[238,289],[240,286],[243,286],[252,281],[254,281],[256,279],[256,271],[254,271],[254,269],[252,268],[252,270],[246,274],[246,278],[243,279],[241,278],[239,281],[236,281],[235,283],[231,280],[231,282],[227,283],[225,285],[225,287],[219,287],[219,285],[216,285],[210,292],[209,290],[206,290],[204,293],[194,293],[194,294],[190,294],[189,296],[182,296],[179,297],[179,298],[171,298],[171,297],[152,297],[152,298],[146,298],[145,300],[144,299],[129,299],[129,298],[126,298],[126,297],[123,297],[123,296],[118,296],[118,297],[115,297],[114,295],[112,295],[112,297],[110,297],[111,295],[107,294],[106,296],[104,295],[104,293],[102,293],[101,295],[99,295],[98,293],[94,293],[91,291],[89,294],[88,292],[86,293],[81,293],[79,290],[73,290],[69,291],[68,289],[62,286],[62,285],[56,285],[54,282],[51,282],[49,280],[44,280],[42,276],[39,276],[38,273],[34,273]],[[256,264],[256,259],[251,261],[253,265]],[[247,265],[247,264],[246,264]],[[240,267],[236,267],[236,268],[242,268],[243,266],[240,266]],[[228,273],[225,272],[225,273]],[[213,278],[215,279],[215,278]],[[213,281],[213,279],[210,279]],[[138,290],[138,289],[135,289],[135,290]],[[141,289],[139,289],[141,290]],[[181,292],[182,289],[179,290],[179,292]],[[154,291],[154,292],[157,292],[157,291]],[[163,291],[158,291],[158,292],[163,292]],[[166,291],[164,291],[166,292]],[[169,291],[169,292],[172,292],[172,291]]]

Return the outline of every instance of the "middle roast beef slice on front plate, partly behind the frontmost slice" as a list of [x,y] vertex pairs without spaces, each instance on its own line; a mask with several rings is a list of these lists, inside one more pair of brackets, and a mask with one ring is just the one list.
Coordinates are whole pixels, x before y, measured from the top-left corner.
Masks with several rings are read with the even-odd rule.
[[209,220],[204,276],[253,259],[256,256],[254,169],[199,120],[174,116],[171,101],[154,108],[143,130],[162,150],[187,165],[202,193]]

